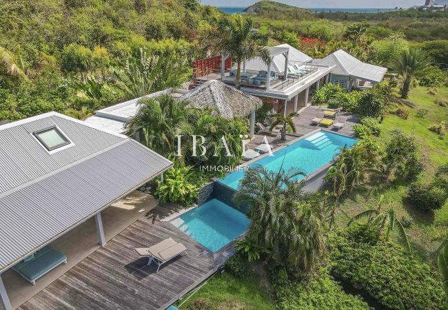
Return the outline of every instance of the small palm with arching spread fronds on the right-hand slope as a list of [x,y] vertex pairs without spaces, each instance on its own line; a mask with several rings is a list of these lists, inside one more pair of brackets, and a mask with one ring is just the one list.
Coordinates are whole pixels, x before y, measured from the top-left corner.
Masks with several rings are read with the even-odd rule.
[[409,243],[409,238],[407,238],[407,234],[405,231],[405,227],[403,224],[396,218],[394,208],[389,208],[387,212],[381,211],[381,205],[383,205],[384,195],[380,196],[380,200],[378,203],[378,207],[376,209],[367,209],[365,211],[356,214],[348,223],[348,225],[352,225],[355,220],[359,220],[361,218],[367,218],[368,225],[367,229],[376,229],[378,233],[378,237],[382,236],[384,229],[386,229],[386,240],[389,240],[391,231],[394,229],[398,229],[398,234],[405,240],[406,247],[411,253],[411,244]]

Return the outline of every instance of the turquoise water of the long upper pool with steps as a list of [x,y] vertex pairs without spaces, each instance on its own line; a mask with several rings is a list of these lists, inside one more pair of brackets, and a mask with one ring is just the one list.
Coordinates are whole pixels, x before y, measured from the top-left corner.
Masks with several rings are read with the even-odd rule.
[[[340,134],[332,134],[331,132],[316,132],[311,136],[307,136],[283,149],[274,152],[273,156],[266,156],[248,167],[261,165],[265,169],[278,172],[280,169],[287,170],[291,167],[299,167],[305,171],[307,175],[316,171],[318,168],[330,163],[339,147],[352,147],[356,143],[356,139]],[[238,189],[241,179],[244,177],[244,170],[240,169],[231,174],[227,174],[225,178],[218,179],[233,189]],[[303,176],[298,176],[297,180],[301,180]]]

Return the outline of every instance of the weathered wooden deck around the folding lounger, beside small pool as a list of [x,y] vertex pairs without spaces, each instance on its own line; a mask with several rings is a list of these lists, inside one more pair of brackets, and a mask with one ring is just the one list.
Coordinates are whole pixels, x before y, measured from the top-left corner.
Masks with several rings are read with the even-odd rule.
[[[112,238],[18,309],[165,309],[218,270],[233,250],[212,254],[172,224],[159,219],[175,209],[156,207]],[[145,266],[134,248],[172,237],[187,255]]]

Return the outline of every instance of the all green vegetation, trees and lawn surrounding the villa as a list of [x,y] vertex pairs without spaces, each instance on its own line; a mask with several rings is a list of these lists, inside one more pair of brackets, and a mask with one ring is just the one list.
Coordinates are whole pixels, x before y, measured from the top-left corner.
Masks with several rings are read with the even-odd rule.
[[[191,61],[207,52],[264,57],[266,43],[318,58],[342,48],[387,66],[398,79],[374,90],[325,85],[314,94],[314,105],[360,116],[358,143],[340,149],[325,189],[303,192],[300,169],[247,172],[234,197],[251,218],[241,254],[186,306],[273,309],[275,298],[280,309],[446,308],[448,12],[314,14],[272,1],[247,12],[253,21],[196,0],[3,1],[0,121],[52,110],[85,118],[190,81]],[[190,206],[212,176],[199,166],[238,163],[213,154],[221,136],[241,154],[247,120],[170,96],[139,104],[128,134],[170,158],[185,136],[175,167],[158,181],[162,201]],[[290,116],[272,121],[294,131]],[[190,134],[206,136],[205,154],[192,154]]]

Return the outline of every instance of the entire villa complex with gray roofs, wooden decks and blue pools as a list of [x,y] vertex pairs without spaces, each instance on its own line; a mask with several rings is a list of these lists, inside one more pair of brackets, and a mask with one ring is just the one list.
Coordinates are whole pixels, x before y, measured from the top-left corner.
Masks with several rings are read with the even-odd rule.
[[[340,84],[343,78],[347,90],[358,80],[379,83],[385,68],[340,51],[321,61],[285,44],[269,52],[268,64],[260,59],[243,63],[241,90],[234,87],[234,66],[223,55],[196,62],[191,85],[143,98],[170,94],[195,108],[215,108],[223,118],[250,118],[250,148],[257,155],[244,165],[278,169],[306,162],[307,186],[314,191],[323,184],[338,147],[356,142],[356,116],[310,106],[310,92],[325,83]],[[248,225],[231,199],[243,172],[206,185],[198,203],[203,207],[196,211],[207,212],[209,223],[196,231],[186,227],[193,209],[160,206],[152,196],[135,192],[157,176],[163,178],[173,165],[138,143],[138,134],[124,135],[125,123],[139,110],[139,100],[106,107],[85,121],[50,112],[0,125],[4,309],[164,309],[234,254],[232,242]],[[286,141],[269,136],[273,156],[263,150],[264,134],[255,134],[255,111],[263,103],[285,115],[300,112],[294,118],[295,135]],[[203,240],[203,231],[212,234],[216,225],[233,229],[230,237]],[[134,251],[167,238],[182,242],[187,255],[160,272]]]

